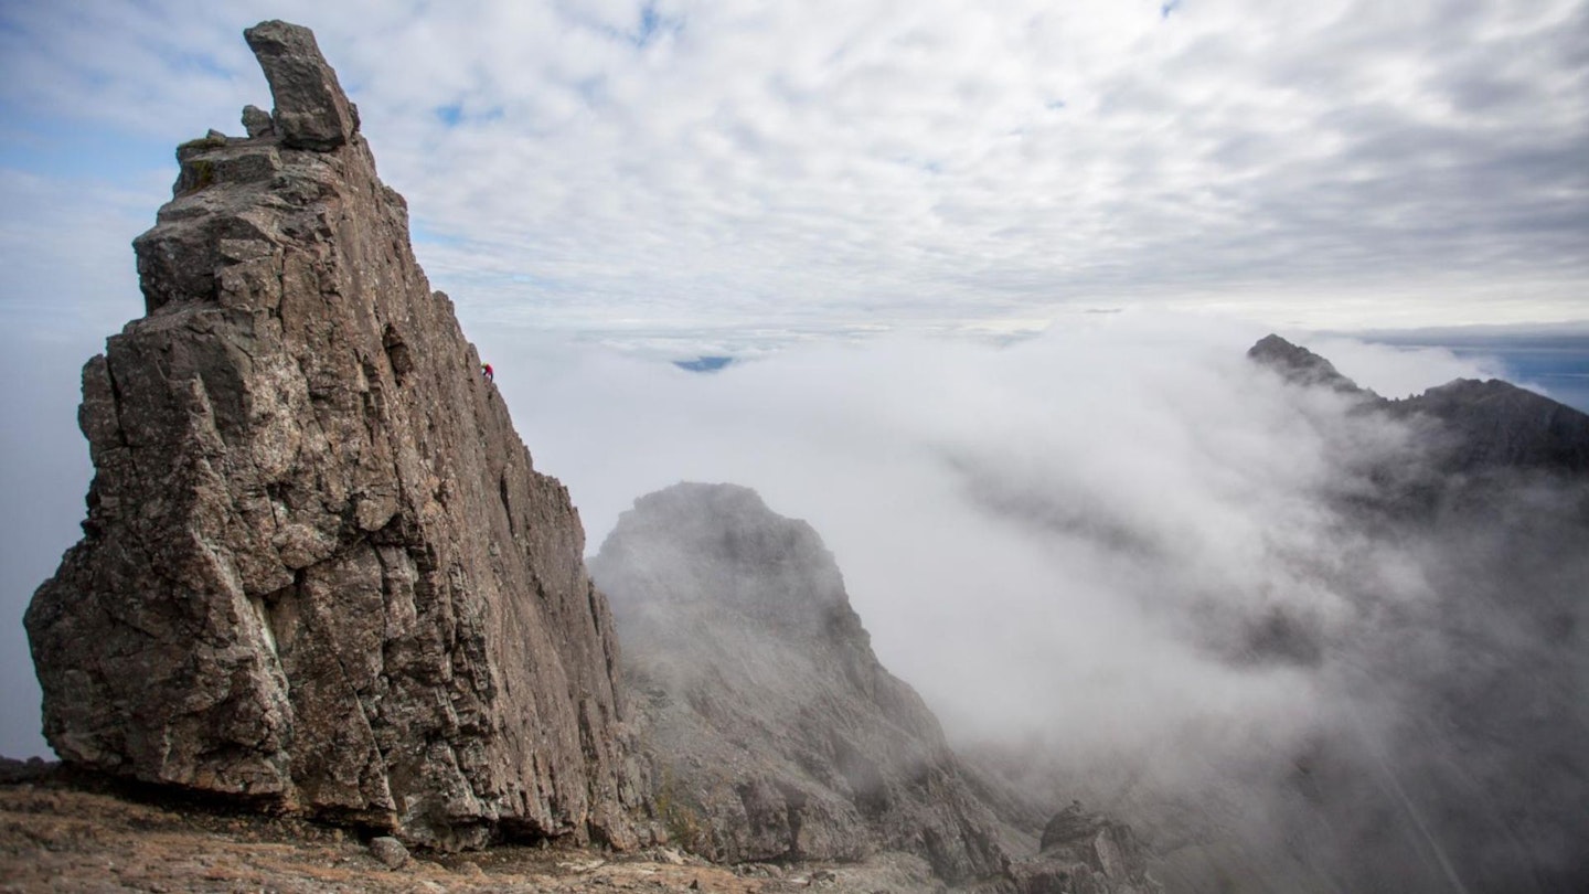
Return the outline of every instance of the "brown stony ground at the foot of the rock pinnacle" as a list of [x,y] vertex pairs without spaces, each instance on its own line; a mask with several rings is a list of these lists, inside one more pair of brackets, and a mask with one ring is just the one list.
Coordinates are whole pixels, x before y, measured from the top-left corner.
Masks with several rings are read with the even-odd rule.
[[[8,762],[0,779],[0,892],[215,894],[783,891],[939,888],[925,862],[718,867],[669,848],[632,854],[496,846],[383,854],[359,835],[289,818],[178,803],[100,778]],[[388,865],[381,859],[397,865]],[[399,862],[400,861],[400,862]]]

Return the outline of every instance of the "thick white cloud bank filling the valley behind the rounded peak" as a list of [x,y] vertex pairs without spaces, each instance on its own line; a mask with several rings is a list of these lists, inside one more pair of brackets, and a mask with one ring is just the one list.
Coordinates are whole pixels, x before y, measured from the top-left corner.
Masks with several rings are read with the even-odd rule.
[[[1336,396],[1298,406],[1244,358],[1263,334],[1122,313],[1011,345],[880,339],[710,375],[485,350],[591,552],[639,495],[750,485],[817,528],[883,662],[953,733],[1063,727],[1120,748],[1189,719],[1284,719],[1306,674],[1233,668],[1220,649],[1239,644],[1189,625],[1297,604],[1328,627],[1346,609],[1306,565],[1368,549],[1324,506],[1357,474],[1333,447],[1373,455],[1401,433],[1347,425]],[[1389,393],[1492,372],[1438,350],[1354,360]]]

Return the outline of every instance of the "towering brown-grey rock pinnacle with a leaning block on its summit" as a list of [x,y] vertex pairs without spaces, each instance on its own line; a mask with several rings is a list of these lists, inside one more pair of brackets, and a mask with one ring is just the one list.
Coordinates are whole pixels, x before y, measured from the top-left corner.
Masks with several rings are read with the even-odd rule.
[[[636,843],[607,603],[305,29],[276,137],[178,150],[83,372],[84,538],[27,630],[62,759],[386,829]],[[308,150],[302,146],[311,146]]]

